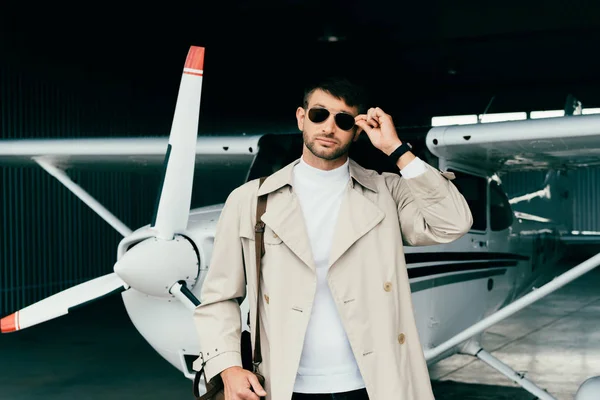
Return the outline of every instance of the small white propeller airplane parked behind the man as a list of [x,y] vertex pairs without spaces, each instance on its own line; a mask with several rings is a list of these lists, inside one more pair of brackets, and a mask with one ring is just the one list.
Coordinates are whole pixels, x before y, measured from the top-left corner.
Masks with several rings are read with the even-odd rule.
[[[3,333],[60,317],[73,307],[120,293],[144,339],[184,376],[198,358],[192,311],[199,304],[223,203],[191,208],[194,173],[225,167],[243,180],[268,175],[299,157],[301,135],[198,136],[204,48],[185,61],[167,138],[23,139],[0,141],[0,163],[35,163],[123,235],[114,272],[31,304],[1,320]],[[477,357],[540,399],[549,393],[479,344],[485,329],[600,264],[600,254],[531,291],[566,245],[598,236],[571,234],[568,171],[600,165],[600,116],[433,127],[420,155],[453,183],[473,214],[470,232],[442,245],[406,247],[417,327],[428,364],[455,353]],[[367,168],[389,166],[353,146]],[[366,147],[365,147],[366,149]],[[70,179],[80,165],[134,165],[164,160],[164,177],[151,223],[132,230]],[[366,164],[366,165],[365,165]],[[508,198],[500,175],[545,170],[541,188]],[[396,172],[398,172],[396,170]],[[212,190],[212,188],[208,189]],[[226,193],[225,193],[226,194]],[[241,304],[242,316],[248,302]],[[156,321],[160,320],[160,324]],[[249,330],[245,318],[243,328]]]

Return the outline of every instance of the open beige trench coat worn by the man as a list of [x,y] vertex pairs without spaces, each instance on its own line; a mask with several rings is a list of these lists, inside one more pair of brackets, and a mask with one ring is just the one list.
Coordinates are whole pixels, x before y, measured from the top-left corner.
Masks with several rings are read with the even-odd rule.
[[[247,182],[228,197],[212,259],[194,312],[207,379],[239,365],[239,303],[256,307],[254,220],[256,197],[268,194],[262,262],[260,371],[267,399],[292,396],[317,278],[304,216],[292,188],[299,160]],[[337,304],[370,400],[433,399],[415,325],[403,245],[451,242],[471,227],[451,174],[427,165],[405,179],[367,170],[350,160],[351,179],[339,212],[327,282]],[[248,279],[248,293],[244,267]],[[246,316],[243,316],[244,318]],[[251,311],[250,321],[255,315]],[[253,329],[253,328],[252,328]],[[254,341],[254,331],[252,340]]]

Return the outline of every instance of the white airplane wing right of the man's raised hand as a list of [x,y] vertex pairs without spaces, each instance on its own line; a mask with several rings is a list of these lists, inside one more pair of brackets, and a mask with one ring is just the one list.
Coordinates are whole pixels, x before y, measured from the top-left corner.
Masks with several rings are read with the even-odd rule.
[[600,115],[435,127],[426,144],[492,172],[591,167],[600,165]]

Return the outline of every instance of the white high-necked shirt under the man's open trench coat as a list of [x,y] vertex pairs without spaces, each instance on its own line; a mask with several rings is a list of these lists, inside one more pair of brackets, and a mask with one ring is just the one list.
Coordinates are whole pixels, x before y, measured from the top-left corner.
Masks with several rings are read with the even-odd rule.
[[[420,159],[402,169],[404,178],[425,172]],[[331,171],[304,160],[294,167],[293,190],[298,197],[317,272],[317,291],[294,392],[337,393],[365,387],[327,284],[329,256],[340,206],[350,183],[349,161]]]

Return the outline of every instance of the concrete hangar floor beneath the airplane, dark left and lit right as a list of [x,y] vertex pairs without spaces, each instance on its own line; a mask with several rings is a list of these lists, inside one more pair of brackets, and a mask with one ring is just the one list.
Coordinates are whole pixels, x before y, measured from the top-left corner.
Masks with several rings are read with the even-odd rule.
[[[556,398],[573,399],[600,375],[599,285],[600,270],[588,273],[491,328],[484,347]],[[533,398],[468,356],[430,373],[437,400]],[[137,333],[120,296],[0,336],[0,399],[193,399],[191,390]]]

